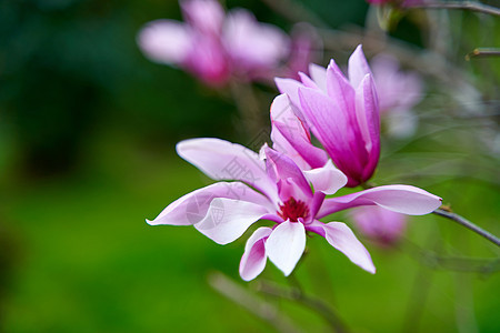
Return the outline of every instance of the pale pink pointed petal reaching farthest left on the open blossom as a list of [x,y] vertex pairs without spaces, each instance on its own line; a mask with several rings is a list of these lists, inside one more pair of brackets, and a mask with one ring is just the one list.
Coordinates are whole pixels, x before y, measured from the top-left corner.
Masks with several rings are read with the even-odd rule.
[[272,210],[273,205],[269,200],[240,182],[219,182],[206,188],[188,193],[169,204],[154,220],[149,221],[150,225],[191,225],[200,222],[206,215],[210,203],[216,198],[228,198],[244,200],[267,206]]

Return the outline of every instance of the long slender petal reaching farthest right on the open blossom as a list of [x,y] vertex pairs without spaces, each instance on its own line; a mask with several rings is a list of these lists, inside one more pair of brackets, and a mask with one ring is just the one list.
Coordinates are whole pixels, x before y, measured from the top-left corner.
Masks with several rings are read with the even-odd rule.
[[393,212],[423,215],[441,205],[441,198],[410,185],[386,185],[324,200],[318,219],[360,205],[379,205]]

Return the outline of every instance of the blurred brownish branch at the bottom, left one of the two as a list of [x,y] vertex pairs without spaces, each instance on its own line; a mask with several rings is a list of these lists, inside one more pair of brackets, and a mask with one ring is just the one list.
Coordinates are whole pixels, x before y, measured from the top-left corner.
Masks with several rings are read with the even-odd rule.
[[208,282],[220,294],[268,322],[278,332],[300,332],[297,330],[297,325],[288,316],[280,313],[274,305],[258,299],[224,274],[211,273],[208,276]]

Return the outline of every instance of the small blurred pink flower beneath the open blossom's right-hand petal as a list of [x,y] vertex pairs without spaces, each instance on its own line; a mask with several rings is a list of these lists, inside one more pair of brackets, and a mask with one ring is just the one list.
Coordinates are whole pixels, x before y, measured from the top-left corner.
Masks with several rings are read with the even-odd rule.
[[381,245],[399,241],[407,229],[407,216],[380,206],[362,206],[352,210],[357,229]]

